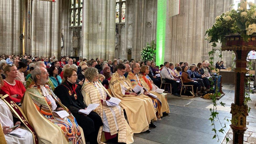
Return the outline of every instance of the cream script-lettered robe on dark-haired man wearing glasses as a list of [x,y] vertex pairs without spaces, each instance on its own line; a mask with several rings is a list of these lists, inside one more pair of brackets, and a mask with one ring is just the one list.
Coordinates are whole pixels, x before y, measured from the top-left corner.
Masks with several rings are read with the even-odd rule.
[[143,94],[130,95],[132,88],[124,76],[113,73],[109,86],[113,96],[122,100],[119,105],[125,109],[129,126],[134,133],[148,130],[151,120],[157,120],[152,100]]

